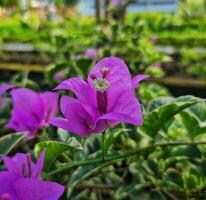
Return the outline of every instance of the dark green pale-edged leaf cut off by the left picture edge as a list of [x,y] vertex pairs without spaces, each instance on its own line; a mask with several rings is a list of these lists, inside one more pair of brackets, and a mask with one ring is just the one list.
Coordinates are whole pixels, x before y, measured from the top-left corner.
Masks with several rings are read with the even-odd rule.
[[12,133],[0,138],[0,154],[7,155],[23,138],[24,134]]

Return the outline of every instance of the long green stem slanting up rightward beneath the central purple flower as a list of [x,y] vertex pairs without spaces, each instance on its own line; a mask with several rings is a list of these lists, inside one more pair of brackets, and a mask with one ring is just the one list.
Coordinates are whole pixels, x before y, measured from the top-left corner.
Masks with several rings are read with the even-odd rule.
[[[119,154],[119,155],[106,156],[106,157],[104,157],[104,162],[105,162],[105,164],[108,163],[108,165],[110,165],[111,161],[115,161],[116,162],[116,161],[119,161],[119,160],[126,160],[126,159],[128,159],[130,157],[139,155],[139,153],[142,152],[142,151],[154,149],[156,147],[185,146],[185,145],[206,145],[206,141],[156,143],[156,144],[152,144],[150,146],[144,147],[144,148],[140,148],[140,149],[136,149],[136,150],[131,150],[131,151],[128,151],[126,153]],[[70,164],[65,164],[64,166],[62,166],[62,167],[60,167],[60,168],[58,168],[58,169],[48,173],[48,176],[49,177],[53,176],[55,174],[67,171],[67,170],[69,170],[71,168],[74,168],[74,167],[90,165],[90,164],[96,164],[96,163],[101,163],[101,162],[102,162],[102,158],[98,158],[98,159],[83,160],[83,161],[73,162],[73,163],[70,163]]]

